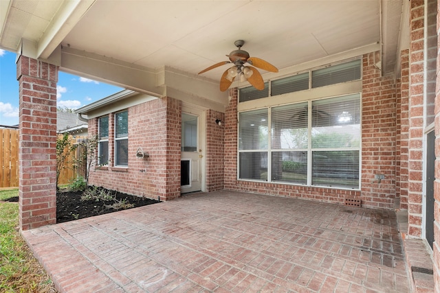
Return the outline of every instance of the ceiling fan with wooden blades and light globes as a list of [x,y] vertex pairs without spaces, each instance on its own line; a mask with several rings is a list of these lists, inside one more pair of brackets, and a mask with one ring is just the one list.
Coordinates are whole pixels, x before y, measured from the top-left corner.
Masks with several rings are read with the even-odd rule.
[[[234,82],[236,77],[240,78],[241,82],[245,82],[246,80],[248,80],[248,82],[252,84],[252,86],[254,86],[255,89],[258,89],[260,91],[263,90],[264,89],[263,77],[255,67],[271,72],[278,72],[278,69],[274,67],[274,65],[270,64],[269,62],[263,59],[250,57],[247,51],[243,51],[241,49],[244,43],[245,43],[244,40],[236,40],[234,42],[234,45],[239,49],[230,52],[229,55],[226,55],[229,57],[230,61],[222,61],[216,63],[206,69],[203,69],[202,71],[199,72],[199,74],[220,67],[221,65],[232,63],[234,64],[234,66],[230,67],[230,69],[227,69],[225,72],[223,72],[223,75],[221,75],[220,91],[226,91],[229,88],[229,86],[232,84],[232,82]],[[254,65],[254,67],[245,66],[245,63]]]

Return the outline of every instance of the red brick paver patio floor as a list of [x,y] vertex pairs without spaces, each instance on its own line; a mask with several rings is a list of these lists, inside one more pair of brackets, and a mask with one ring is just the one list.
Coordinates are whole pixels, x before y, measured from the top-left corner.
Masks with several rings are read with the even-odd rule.
[[409,292],[394,211],[233,191],[23,231],[61,292]]

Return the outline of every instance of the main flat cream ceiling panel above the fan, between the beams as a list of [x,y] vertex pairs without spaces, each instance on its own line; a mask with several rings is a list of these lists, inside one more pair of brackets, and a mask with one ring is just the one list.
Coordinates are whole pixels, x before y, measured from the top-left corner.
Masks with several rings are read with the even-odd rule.
[[[380,42],[379,1],[96,1],[63,45],[197,74],[243,39],[279,69]],[[228,66],[203,73],[219,80]]]

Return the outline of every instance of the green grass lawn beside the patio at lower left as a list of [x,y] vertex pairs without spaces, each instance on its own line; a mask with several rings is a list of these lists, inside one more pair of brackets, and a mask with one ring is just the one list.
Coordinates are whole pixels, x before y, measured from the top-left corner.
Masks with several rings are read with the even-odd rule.
[[19,234],[19,205],[3,202],[18,195],[18,189],[0,190],[0,292],[55,292]]

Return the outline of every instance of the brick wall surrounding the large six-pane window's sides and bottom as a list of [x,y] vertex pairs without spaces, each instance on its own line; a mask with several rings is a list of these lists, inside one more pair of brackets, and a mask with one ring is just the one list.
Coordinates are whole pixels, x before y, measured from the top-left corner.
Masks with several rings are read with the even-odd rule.
[[[237,91],[230,90],[225,113],[225,189],[326,202],[361,196],[364,207],[394,208],[396,185],[396,82],[382,77],[375,64],[379,53],[363,58],[361,191],[237,180]],[[400,89],[400,87],[399,87]],[[378,182],[376,174],[383,174]]]

